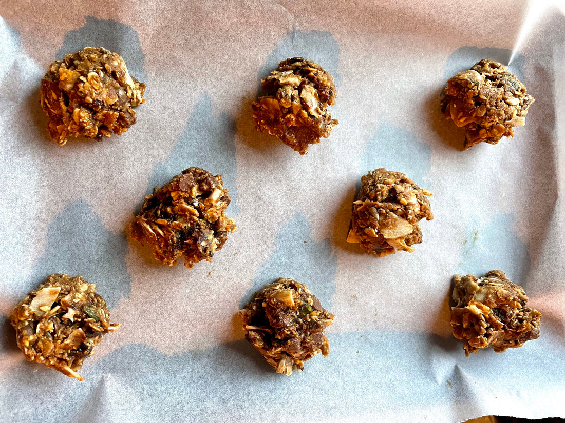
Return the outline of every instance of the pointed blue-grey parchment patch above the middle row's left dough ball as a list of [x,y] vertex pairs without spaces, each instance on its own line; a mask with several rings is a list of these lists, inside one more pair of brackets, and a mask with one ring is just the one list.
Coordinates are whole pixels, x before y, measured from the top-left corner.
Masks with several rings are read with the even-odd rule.
[[202,95],[167,160],[155,165],[147,193],[195,166],[214,175],[223,175],[224,186],[232,197],[228,215],[237,215],[236,130],[236,122],[228,113],[221,112],[214,117],[210,96]]

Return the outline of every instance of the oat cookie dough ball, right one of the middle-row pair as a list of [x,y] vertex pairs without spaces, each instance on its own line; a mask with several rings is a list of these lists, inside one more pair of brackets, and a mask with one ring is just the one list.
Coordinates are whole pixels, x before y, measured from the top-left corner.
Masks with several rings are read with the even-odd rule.
[[423,190],[405,174],[377,169],[361,178],[362,187],[353,202],[353,215],[347,242],[359,243],[367,254],[409,253],[411,245],[422,241],[418,222],[430,221],[433,214]]

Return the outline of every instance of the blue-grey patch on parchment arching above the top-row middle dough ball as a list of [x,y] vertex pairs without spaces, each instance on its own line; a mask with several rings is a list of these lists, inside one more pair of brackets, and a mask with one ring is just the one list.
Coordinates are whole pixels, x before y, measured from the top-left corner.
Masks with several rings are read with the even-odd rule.
[[269,76],[271,70],[279,66],[280,61],[301,57],[318,63],[333,77],[336,86],[340,86],[341,74],[337,73],[340,61],[340,45],[327,31],[302,32],[292,30],[267,57],[265,64],[259,69],[257,91],[260,92],[261,80]]

